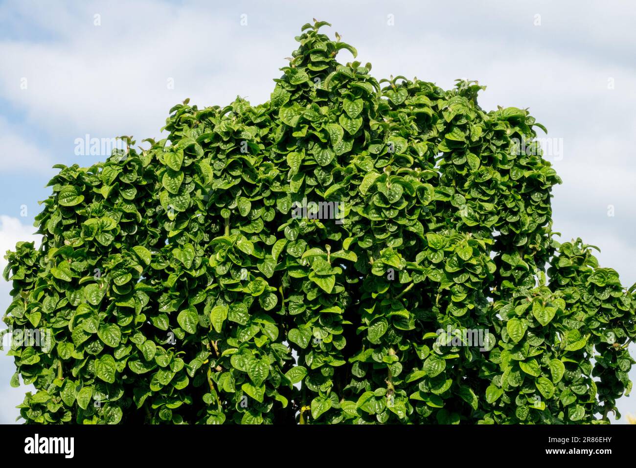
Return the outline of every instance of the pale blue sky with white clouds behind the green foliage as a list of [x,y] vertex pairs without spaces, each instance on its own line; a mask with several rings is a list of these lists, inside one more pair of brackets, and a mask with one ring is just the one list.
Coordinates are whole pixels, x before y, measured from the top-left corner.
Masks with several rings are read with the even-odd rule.
[[[78,139],[156,138],[186,97],[266,101],[314,17],[377,78],[478,80],[483,108],[530,108],[563,179],[561,240],[600,246],[602,266],[636,281],[636,8],[614,0],[0,2],[0,271],[6,250],[35,239],[51,166],[103,159]],[[9,289],[0,280],[0,314]],[[0,357],[0,423],[15,420],[25,391],[9,386],[12,374]],[[636,397],[619,409],[636,415]]]

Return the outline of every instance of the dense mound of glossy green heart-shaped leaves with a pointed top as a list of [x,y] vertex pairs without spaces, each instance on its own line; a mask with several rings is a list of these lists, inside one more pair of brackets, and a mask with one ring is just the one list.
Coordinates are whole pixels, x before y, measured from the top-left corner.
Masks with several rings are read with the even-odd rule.
[[322,25],[267,103],[56,166],[5,271],[5,322],[53,337],[10,351],[27,422],[590,423],[628,393],[632,291],[553,240],[560,179],[515,145],[543,127],[338,64]]

